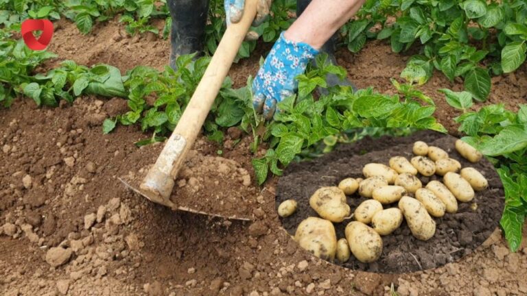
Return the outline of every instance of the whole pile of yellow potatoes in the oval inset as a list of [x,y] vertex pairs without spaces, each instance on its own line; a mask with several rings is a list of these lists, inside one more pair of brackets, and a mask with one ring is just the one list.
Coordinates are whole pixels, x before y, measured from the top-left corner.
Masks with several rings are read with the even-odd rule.
[[[456,150],[469,162],[478,162],[482,155],[462,140],[456,140]],[[462,168],[460,162],[449,158],[447,151],[417,141],[414,157],[393,156],[388,165],[366,164],[364,179],[346,178],[338,186],[322,187],[309,199],[319,217],[302,221],[294,240],[319,258],[341,263],[351,254],[360,262],[375,262],[382,254],[382,236],[397,230],[406,219],[415,238],[429,240],[436,232],[433,217],[443,217],[458,210],[458,202],[469,202],[474,190],[484,190],[487,179],[472,167]],[[440,175],[443,182],[430,181],[423,185],[417,177]],[[358,193],[368,198],[353,213],[346,196]],[[397,206],[394,206],[397,203]],[[279,205],[281,217],[292,215],[298,204],[294,199]],[[347,224],[345,238],[338,239],[333,223],[353,219]],[[337,240],[338,239],[338,240]]]

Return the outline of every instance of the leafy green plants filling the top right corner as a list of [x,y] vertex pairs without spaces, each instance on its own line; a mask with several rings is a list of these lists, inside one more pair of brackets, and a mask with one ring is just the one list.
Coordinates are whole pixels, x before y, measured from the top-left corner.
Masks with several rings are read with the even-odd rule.
[[[374,29],[377,24],[382,28]],[[527,3],[367,0],[341,33],[352,52],[360,51],[367,38],[389,39],[395,52],[419,43],[421,54],[408,61],[402,77],[424,84],[436,69],[451,81],[462,77],[473,99],[485,101],[490,73],[515,71],[526,60]]]

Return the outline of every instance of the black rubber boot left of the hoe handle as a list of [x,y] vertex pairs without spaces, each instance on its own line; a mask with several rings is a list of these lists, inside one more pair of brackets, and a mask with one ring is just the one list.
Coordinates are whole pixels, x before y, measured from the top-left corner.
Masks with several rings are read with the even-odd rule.
[[209,0],[168,0],[172,17],[170,66],[176,70],[176,58],[203,51]]

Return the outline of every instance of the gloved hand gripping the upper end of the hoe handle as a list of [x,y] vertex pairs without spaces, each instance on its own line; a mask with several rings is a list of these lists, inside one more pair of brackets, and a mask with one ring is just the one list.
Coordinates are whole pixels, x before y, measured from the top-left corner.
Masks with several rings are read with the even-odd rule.
[[[269,10],[271,8],[272,0],[258,0],[257,12],[255,21],[253,21],[253,27],[257,27],[266,19],[266,16],[269,15]],[[245,0],[224,0],[225,14],[227,26],[231,23],[237,23],[242,19],[244,15]],[[251,31],[248,32],[246,40],[257,40],[257,32]]]

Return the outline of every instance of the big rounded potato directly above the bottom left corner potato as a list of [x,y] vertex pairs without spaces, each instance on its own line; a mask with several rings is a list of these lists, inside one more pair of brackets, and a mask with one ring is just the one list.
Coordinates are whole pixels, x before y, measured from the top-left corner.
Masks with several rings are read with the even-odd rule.
[[320,217],[336,223],[342,222],[351,211],[346,204],[346,195],[335,186],[318,188],[309,198],[309,206]]

